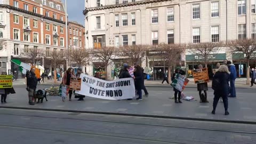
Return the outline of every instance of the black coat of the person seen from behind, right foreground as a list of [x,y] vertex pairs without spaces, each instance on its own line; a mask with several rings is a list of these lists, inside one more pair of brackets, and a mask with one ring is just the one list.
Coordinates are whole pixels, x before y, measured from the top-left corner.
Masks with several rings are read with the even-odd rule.
[[217,71],[213,77],[214,79],[219,79],[220,82],[220,90],[214,91],[214,95],[223,95],[228,96],[230,93],[230,87],[229,87],[229,79],[230,75],[226,72],[220,72]]

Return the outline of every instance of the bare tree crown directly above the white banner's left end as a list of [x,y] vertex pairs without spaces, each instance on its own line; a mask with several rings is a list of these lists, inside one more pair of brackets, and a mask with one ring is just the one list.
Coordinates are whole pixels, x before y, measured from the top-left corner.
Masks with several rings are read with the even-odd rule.
[[70,49],[69,57],[71,61],[76,62],[79,67],[86,66],[89,62],[90,51],[88,49]]

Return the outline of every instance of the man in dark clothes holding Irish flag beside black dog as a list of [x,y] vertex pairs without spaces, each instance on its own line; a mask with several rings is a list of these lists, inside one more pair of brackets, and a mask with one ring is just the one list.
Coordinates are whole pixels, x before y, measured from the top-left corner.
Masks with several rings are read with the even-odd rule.
[[34,95],[35,95],[36,85],[37,85],[35,70],[36,68],[32,67],[32,69],[27,74],[27,91],[28,91],[29,105],[35,105]]

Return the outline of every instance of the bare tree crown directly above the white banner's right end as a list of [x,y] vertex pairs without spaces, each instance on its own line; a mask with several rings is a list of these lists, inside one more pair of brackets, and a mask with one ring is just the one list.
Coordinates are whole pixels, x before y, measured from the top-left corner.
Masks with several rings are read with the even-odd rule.
[[118,55],[128,57],[130,59],[129,65],[133,65],[135,62],[142,62],[141,59],[145,57],[148,48],[149,45],[127,45],[121,47],[121,52]]

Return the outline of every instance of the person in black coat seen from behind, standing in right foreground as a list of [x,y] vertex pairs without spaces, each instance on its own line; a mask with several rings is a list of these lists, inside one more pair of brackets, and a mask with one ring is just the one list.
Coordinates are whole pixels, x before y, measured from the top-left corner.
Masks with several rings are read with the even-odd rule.
[[228,112],[228,94],[230,91],[229,79],[230,72],[226,65],[221,65],[219,70],[215,73],[213,81],[217,80],[219,82],[218,89],[214,90],[213,99],[213,110],[212,114],[215,114],[215,109],[217,107],[218,101],[222,98],[225,108],[225,115],[229,115]]

